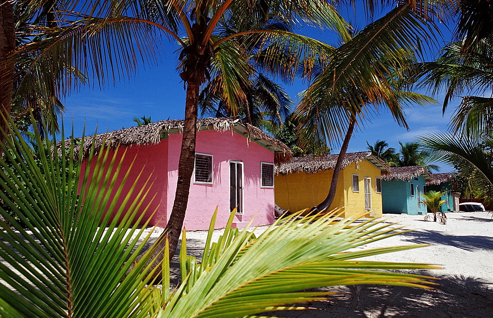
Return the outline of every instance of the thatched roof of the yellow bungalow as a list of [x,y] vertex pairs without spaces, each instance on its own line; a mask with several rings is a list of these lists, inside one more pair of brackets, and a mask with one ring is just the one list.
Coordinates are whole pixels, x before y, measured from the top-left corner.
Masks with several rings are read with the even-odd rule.
[[[276,166],[276,174],[284,175],[300,171],[304,171],[306,173],[316,173],[318,171],[331,170],[336,166],[338,157],[339,155],[326,155],[293,158],[288,162]],[[347,153],[342,161],[342,168],[344,169],[353,162],[357,163],[365,159],[380,168],[381,171],[385,172],[390,169],[384,160],[375,157],[368,152]]]

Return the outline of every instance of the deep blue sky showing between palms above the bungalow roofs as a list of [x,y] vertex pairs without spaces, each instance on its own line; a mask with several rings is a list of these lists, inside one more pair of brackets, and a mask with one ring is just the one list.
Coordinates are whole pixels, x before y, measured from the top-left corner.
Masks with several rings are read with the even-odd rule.
[[[349,15],[352,21],[354,17]],[[365,25],[364,19],[356,22],[357,27]],[[446,28],[441,28],[444,39],[450,39],[450,33]],[[334,43],[334,36],[330,31],[321,32],[313,29],[301,29],[303,35]],[[437,43],[440,45],[441,43]],[[81,136],[86,127],[86,134],[118,130],[122,127],[134,126],[134,117],[151,116],[152,121],[170,119],[183,119],[185,105],[185,90],[183,82],[176,72],[177,46],[174,43],[165,44],[160,53],[157,66],[139,66],[137,74],[130,80],[117,83],[115,86],[82,87],[78,92],[72,92],[64,104],[66,112],[64,121],[66,134],[70,135],[70,123],[73,120],[74,136]],[[434,52],[430,52],[430,56]],[[284,86],[291,98],[297,100],[296,95],[306,89],[306,83],[295,81],[290,86]],[[349,145],[349,152],[365,151],[366,141],[373,144],[376,140],[385,140],[390,147],[399,148],[398,142],[413,141],[417,136],[445,130],[452,116],[455,103],[451,103],[445,116],[442,116],[443,96],[435,96],[439,101],[437,105],[425,107],[416,106],[405,110],[409,130],[399,127],[391,115],[383,111],[371,120],[364,122],[364,126],[355,131]],[[338,152],[338,146],[334,145],[332,153]],[[440,172],[452,171],[449,166],[442,166]]]

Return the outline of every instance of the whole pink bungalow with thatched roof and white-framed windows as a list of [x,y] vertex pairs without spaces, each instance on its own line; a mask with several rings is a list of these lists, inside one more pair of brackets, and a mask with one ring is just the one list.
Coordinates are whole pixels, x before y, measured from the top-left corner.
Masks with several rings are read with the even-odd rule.
[[[176,191],[178,159],[183,120],[165,120],[131,127],[108,134],[86,137],[87,155],[93,140],[96,150],[105,139],[110,147],[126,150],[123,167],[135,159],[130,185],[142,170],[138,186],[150,176],[153,182],[147,195],[146,216],[149,225],[165,227],[171,214]],[[216,206],[216,228],[223,228],[230,211],[237,207],[233,226],[244,227],[274,221],[274,164],[290,159],[291,151],[282,142],[250,124],[233,119],[199,119],[195,166],[184,227],[207,230]],[[121,146],[126,147],[122,149]],[[121,176],[120,176],[121,177]],[[123,200],[123,198],[122,198]]]

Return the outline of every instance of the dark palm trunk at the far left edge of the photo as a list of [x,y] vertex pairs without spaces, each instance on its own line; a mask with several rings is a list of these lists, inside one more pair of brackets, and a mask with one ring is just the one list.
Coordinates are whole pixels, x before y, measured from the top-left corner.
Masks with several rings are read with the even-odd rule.
[[[9,1],[0,4],[0,112],[7,119],[12,105],[14,67],[6,57],[15,48],[14,9]],[[6,131],[8,122],[0,118],[0,128]],[[2,135],[0,141],[5,142]],[[0,156],[3,151],[0,148]]]

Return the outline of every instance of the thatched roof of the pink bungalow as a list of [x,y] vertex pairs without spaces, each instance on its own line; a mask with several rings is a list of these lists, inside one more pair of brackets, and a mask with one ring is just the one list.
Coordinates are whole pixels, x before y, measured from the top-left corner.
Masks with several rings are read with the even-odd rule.
[[[184,120],[163,120],[152,122],[146,125],[130,127],[115,131],[110,131],[105,134],[84,137],[84,146],[82,156],[85,158],[89,155],[90,149],[94,144],[94,152],[97,154],[103,144],[114,149],[117,146],[133,146],[133,145],[153,145],[159,143],[161,139],[167,138],[169,134],[181,133],[183,131]],[[272,152],[276,163],[282,163],[292,158],[291,150],[281,141],[269,136],[261,129],[241,122],[238,119],[228,118],[204,118],[197,120],[198,130],[217,131],[235,131],[247,138],[247,140],[255,142]],[[75,138],[78,143],[82,143],[82,138]],[[61,142],[59,142],[59,146]],[[70,147],[69,143],[65,143],[66,148]],[[74,156],[78,157],[81,151],[80,145],[74,148]],[[61,156],[61,149],[58,150],[58,155]]]

